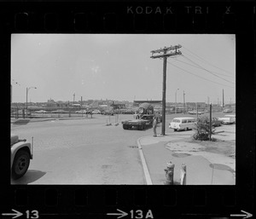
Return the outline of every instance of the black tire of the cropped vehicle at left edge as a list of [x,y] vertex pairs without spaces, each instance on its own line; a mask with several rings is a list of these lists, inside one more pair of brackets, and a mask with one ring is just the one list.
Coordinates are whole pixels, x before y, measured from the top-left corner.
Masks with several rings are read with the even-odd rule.
[[19,179],[21,176],[26,174],[30,164],[30,155],[25,150],[20,150],[15,154],[13,166],[12,166],[12,177],[14,180]]

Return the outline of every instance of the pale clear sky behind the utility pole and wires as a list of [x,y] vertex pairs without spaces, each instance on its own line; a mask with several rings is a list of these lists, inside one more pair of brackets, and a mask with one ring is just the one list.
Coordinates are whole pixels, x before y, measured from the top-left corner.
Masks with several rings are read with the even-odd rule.
[[[12,101],[161,100],[163,60],[150,51],[181,44],[167,59],[166,101],[236,101],[236,36],[230,34],[12,34]],[[178,90],[177,90],[178,89]]]

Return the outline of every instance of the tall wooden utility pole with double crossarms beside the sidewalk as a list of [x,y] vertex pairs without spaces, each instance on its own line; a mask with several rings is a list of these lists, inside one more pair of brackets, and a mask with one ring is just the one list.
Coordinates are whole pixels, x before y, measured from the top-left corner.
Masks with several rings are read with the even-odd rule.
[[[162,130],[161,135],[166,135],[166,61],[167,58],[174,55],[181,55],[182,53],[180,51],[177,51],[177,49],[180,49],[182,46],[171,46],[171,47],[165,47],[164,49],[157,49],[151,51],[151,57],[152,59],[156,58],[164,58],[163,63],[163,91],[162,91]],[[168,51],[175,50],[174,52],[167,53]],[[159,53],[160,55],[154,55],[155,53]]]

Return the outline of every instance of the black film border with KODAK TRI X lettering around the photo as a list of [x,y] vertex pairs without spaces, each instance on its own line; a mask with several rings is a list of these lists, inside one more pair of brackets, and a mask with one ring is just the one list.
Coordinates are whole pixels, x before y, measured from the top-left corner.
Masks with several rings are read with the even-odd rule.
[[[234,33],[236,81],[241,82],[236,84],[236,103],[240,103],[236,106],[240,116],[237,124],[243,126],[243,120],[249,115],[255,118],[253,107],[251,111],[248,110],[247,115],[240,113],[244,110],[242,106],[254,97],[253,75],[243,73],[253,72],[252,64],[255,70],[253,3],[63,3],[61,8],[57,3],[39,4],[40,6],[34,3],[6,3],[4,11],[1,9],[0,28],[4,30],[1,48],[5,53],[5,63],[10,64],[11,33]],[[104,7],[99,7],[102,4]],[[172,7],[169,8],[172,14],[162,13],[165,7]],[[196,10],[199,11],[195,7],[201,7],[205,13],[195,13]],[[152,9],[154,13],[147,12],[147,9]],[[155,13],[156,11],[161,13]],[[247,43],[253,44],[254,51],[253,47],[245,46]],[[244,54],[247,57],[243,57]],[[4,70],[9,72],[10,65],[4,65]],[[9,76],[6,78],[9,79]],[[243,84],[249,84],[249,89],[245,91]],[[9,124],[9,120],[6,122]],[[249,128],[255,132],[255,124],[249,125]],[[141,216],[140,211],[136,213],[136,210],[143,210],[143,218],[146,218],[148,210],[152,210],[154,218],[169,218],[170,214],[175,218],[206,218],[239,214],[241,210],[253,212],[254,178],[244,172],[244,165],[247,170],[254,170],[253,133],[245,133],[242,129],[237,129],[236,133],[243,134],[236,135],[236,154],[239,153],[236,158],[236,186],[9,186],[8,178],[3,181],[6,185],[3,193],[6,205],[3,205],[3,210],[20,210],[26,214],[26,218],[36,218],[36,211],[32,210],[37,209],[39,216],[45,218],[115,218],[106,215],[106,212],[117,212],[117,209],[130,212],[130,218],[131,210],[135,210],[133,218]],[[243,147],[237,147],[239,145]],[[4,153],[9,154],[8,149]],[[249,160],[251,164],[244,164],[245,160]],[[3,166],[8,167],[6,164]],[[9,171],[5,176],[9,176]]]

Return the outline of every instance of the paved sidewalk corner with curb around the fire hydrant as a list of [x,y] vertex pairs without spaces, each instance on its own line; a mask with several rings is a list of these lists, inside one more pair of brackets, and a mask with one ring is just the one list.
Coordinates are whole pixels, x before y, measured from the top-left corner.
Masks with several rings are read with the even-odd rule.
[[147,184],[164,185],[166,164],[172,161],[175,164],[174,185],[180,185],[183,163],[187,167],[186,185],[235,185],[236,160],[224,154],[206,152],[200,144],[189,143],[189,137],[166,134],[137,140],[141,158],[145,160]]

